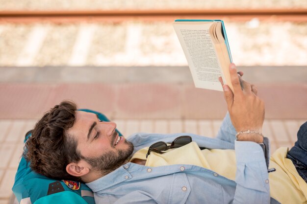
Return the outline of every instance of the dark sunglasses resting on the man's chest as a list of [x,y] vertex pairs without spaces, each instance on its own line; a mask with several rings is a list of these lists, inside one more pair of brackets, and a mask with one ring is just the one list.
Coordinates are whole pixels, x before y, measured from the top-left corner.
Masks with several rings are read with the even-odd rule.
[[146,159],[147,159],[148,155],[150,155],[151,152],[164,154],[165,152],[162,152],[162,151],[182,147],[182,146],[190,143],[191,141],[192,141],[191,136],[179,136],[176,139],[174,139],[174,141],[172,141],[171,145],[167,145],[167,143],[165,143],[163,141],[156,142],[149,147],[149,150],[148,150],[147,155],[146,155]]

